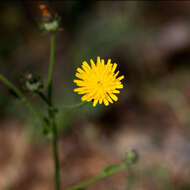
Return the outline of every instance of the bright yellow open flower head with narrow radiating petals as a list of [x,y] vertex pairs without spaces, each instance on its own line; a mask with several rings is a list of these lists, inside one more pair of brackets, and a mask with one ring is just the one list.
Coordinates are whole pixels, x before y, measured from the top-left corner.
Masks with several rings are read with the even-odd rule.
[[86,61],[82,63],[82,69],[77,68],[75,76],[80,80],[74,80],[73,82],[79,88],[75,88],[74,92],[78,94],[83,94],[82,101],[93,101],[93,106],[96,104],[105,104],[108,106],[109,103],[117,101],[118,98],[115,94],[120,93],[119,90],[123,88],[121,80],[124,76],[117,78],[119,71],[115,73],[117,64],[111,63],[111,59],[108,59],[107,64],[104,63],[104,59],[100,60],[100,57],[97,57],[97,64],[95,65],[94,61],[90,59],[91,67]]

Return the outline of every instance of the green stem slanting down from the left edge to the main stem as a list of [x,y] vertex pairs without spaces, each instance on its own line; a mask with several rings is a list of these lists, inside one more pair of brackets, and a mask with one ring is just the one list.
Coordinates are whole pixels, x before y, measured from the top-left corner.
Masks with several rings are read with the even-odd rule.
[[32,113],[42,122],[42,124],[45,127],[47,126],[47,123],[45,122],[43,116],[38,112],[38,110],[34,107],[33,104],[31,104],[28,99],[22,94],[22,92],[15,86],[13,85],[9,80],[7,80],[2,74],[0,74],[0,81],[6,85],[8,88],[13,90],[16,95],[22,100],[22,102],[32,111]]

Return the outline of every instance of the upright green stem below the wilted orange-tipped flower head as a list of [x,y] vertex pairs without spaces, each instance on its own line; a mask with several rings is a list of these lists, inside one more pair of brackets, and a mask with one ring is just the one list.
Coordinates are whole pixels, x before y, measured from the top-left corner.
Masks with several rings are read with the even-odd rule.
[[50,64],[48,73],[48,98],[51,103],[52,99],[52,80],[53,80],[53,68],[55,64],[55,32],[50,34]]

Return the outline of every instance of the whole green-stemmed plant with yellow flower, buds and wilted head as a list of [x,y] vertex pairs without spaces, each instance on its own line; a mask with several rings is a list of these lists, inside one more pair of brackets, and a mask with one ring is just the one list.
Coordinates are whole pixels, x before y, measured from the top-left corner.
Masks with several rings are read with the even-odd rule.
[[[53,101],[53,71],[55,64],[55,41],[56,33],[60,30],[60,18],[57,15],[52,15],[48,8],[41,4],[39,6],[44,17],[43,22],[40,24],[40,28],[43,29],[50,37],[50,62],[47,84],[43,85],[43,80],[39,75],[33,75],[28,73],[24,76],[25,89],[33,94],[37,94],[45,104],[47,104],[47,114],[43,115],[35,105],[33,105],[29,99],[22,93],[22,91],[12,84],[4,75],[0,74],[0,81],[6,85],[9,90],[14,94],[31,110],[36,118],[41,121],[44,131],[48,132],[51,137],[52,155],[54,162],[54,190],[60,190],[60,182],[64,183],[64,179],[60,176],[59,155],[57,149],[57,123],[56,114],[59,109]],[[97,61],[90,59],[90,65],[86,62],[82,62],[81,68],[76,69],[75,79],[73,82],[77,85],[74,92],[77,92],[81,97],[81,102],[76,105],[64,106],[65,109],[78,108],[85,103],[92,102],[95,107],[98,103],[108,106],[110,103],[114,103],[118,100],[115,94],[120,93],[119,89],[123,88],[121,82],[124,76],[119,76],[119,71],[116,71],[117,64],[112,63],[111,59],[108,59],[105,63],[104,59],[97,57]],[[126,153],[124,161],[119,165],[109,166],[105,168],[98,176],[90,178],[78,185],[72,186],[69,190],[85,189],[88,185],[93,184],[101,179],[104,179],[114,173],[128,168],[131,164],[137,160],[137,153],[135,151],[129,151]],[[66,172],[66,171],[64,171]]]

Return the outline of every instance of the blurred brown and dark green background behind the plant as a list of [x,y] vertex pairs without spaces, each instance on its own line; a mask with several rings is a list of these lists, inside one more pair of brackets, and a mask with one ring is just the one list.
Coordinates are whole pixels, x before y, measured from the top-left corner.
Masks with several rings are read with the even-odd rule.
[[[135,149],[138,163],[89,190],[190,189],[190,2],[43,1],[61,16],[54,101],[59,107],[62,189],[119,164]],[[38,1],[1,3],[0,72],[19,88],[24,73],[47,79],[49,35]],[[75,69],[97,56],[117,62],[125,88],[109,107],[74,112]],[[39,121],[0,84],[0,189],[51,190],[51,144]],[[37,96],[24,92],[40,110]],[[61,111],[62,110],[62,111]]]

